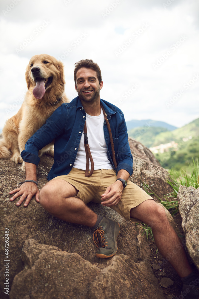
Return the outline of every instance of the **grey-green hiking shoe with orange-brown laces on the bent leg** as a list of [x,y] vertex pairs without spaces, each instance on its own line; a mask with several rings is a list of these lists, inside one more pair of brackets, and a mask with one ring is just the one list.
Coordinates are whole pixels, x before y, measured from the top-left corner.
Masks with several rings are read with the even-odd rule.
[[117,237],[120,232],[119,223],[105,217],[100,221],[98,228],[94,231],[93,241],[98,247],[96,257],[106,259],[116,254],[118,250]]

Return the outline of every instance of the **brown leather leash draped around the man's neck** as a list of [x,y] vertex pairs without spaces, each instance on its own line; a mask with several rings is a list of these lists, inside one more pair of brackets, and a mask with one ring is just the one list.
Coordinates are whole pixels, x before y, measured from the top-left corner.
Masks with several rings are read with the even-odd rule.
[[[115,169],[116,169],[117,168],[117,162],[116,162],[116,159],[115,159],[115,150],[114,150],[114,144],[113,144],[113,138],[112,138],[111,128],[110,128],[110,124],[109,124],[109,121],[108,121],[108,118],[107,118],[107,114],[106,114],[106,112],[104,110],[104,107],[102,105],[101,105],[101,108],[102,108],[102,111],[103,111],[103,114],[104,114],[104,119],[105,119],[105,121],[107,123],[109,137],[110,137],[110,141],[111,141],[111,150],[112,150],[112,156],[113,156],[113,163],[114,163],[114,166],[115,166]],[[92,155],[91,155],[91,152],[90,152],[90,147],[88,145],[88,135],[87,135],[86,121],[85,121],[85,124],[84,124],[84,148],[85,148],[85,152],[86,152],[86,171],[85,171],[85,176],[89,177],[89,176],[92,176],[92,174],[93,174],[93,171],[94,171],[94,162],[93,162]],[[89,170],[89,159],[90,159],[90,163],[91,163],[90,173],[88,172],[88,170]]]

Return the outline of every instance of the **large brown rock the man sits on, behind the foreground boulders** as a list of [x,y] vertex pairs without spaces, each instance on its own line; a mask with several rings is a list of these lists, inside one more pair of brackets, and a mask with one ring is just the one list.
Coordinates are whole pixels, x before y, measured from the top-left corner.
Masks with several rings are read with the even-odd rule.
[[[9,191],[18,187],[18,182],[24,180],[24,172],[19,165],[10,160],[0,160],[0,223],[1,227],[9,229],[9,285],[20,271],[24,269],[24,262],[21,254],[24,243],[27,239],[35,239],[37,242],[49,246],[56,246],[68,254],[77,253],[84,260],[92,265],[98,263],[99,269],[104,269],[109,263],[107,260],[99,260],[95,257],[96,246],[94,245],[91,228],[83,225],[75,225],[64,222],[50,215],[33,198],[30,204],[24,208],[23,204],[16,206],[17,200],[10,202],[7,200],[11,196]],[[38,187],[46,184],[46,174],[53,164],[53,158],[44,155],[38,165]],[[142,231],[137,229],[135,224],[130,224],[114,210],[90,203],[89,207],[96,213],[107,218],[118,221],[121,224],[121,231],[118,236],[118,255],[128,256],[134,263],[144,262],[146,267],[150,267],[150,247],[146,240],[146,235],[142,236]],[[4,231],[0,231],[1,239]],[[4,252],[0,251],[1,260],[4,260]],[[0,288],[4,290],[4,271],[2,265],[0,269]],[[48,269],[50,271],[50,269]],[[148,272],[146,273],[146,276]],[[153,274],[151,274],[153,276]],[[143,280],[145,279],[143,274]],[[7,298],[7,295],[5,297]],[[2,298],[2,299],[3,299]],[[22,297],[23,298],[23,297]]]

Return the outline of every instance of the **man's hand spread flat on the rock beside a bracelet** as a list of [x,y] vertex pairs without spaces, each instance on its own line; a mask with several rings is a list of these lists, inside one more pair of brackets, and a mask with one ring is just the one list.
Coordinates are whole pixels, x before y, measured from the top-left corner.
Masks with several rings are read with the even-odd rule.
[[16,203],[17,206],[20,206],[21,203],[24,201],[24,199],[26,199],[26,201],[24,203],[24,207],[26,207],[34,195],[35,195],[36,201],[39,202],[39,190],[35,183],[26,182],[26,183],[22,184],[21,187],[9,192],[9,194],[13,194],[13,193],[16,193],[16,194],[12,198],[10,198],[11,201],[13,201],[17,197],[21,196],[19,201]]

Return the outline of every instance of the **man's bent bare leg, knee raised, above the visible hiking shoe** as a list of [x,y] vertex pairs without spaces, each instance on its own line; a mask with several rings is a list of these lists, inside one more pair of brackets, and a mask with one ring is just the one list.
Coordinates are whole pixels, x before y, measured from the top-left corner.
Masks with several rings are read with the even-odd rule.
[[49,181],[39,193],[41,206],[49,213],[67,222],[94,226],[97,214],[76,196],[78,191],[62,179]]

